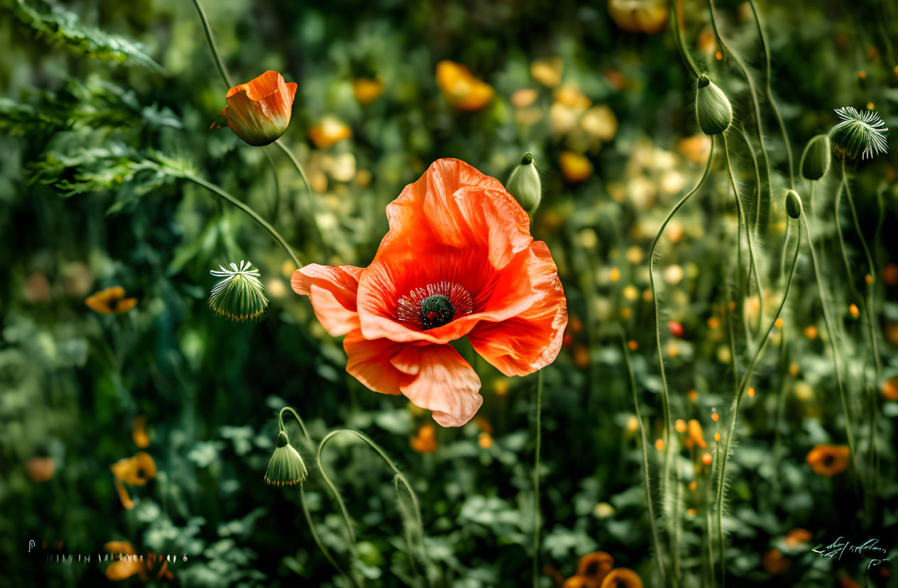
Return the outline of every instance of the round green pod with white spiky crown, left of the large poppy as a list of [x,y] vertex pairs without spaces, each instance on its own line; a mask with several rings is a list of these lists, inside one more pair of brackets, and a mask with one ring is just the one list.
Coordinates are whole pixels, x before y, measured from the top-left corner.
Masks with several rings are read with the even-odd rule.
[[221,271],[209,272],[225,278],[212,288],[209,308],[218,316],[235,322],[260,320],[269,307],[269,299],[265,297],[265,287],[259,280],[259,269],[250,269],[249,261],[241,261],[240,266],[235,263],[230,266],[231,269],[218,266]]

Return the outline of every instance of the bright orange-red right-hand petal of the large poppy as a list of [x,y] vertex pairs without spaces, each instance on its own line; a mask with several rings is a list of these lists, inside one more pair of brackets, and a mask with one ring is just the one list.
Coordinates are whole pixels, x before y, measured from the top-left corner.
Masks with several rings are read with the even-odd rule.
[[500,322],[482,320],[468,333],[474,350],[506,375],[533,373],[555,361],[568,326],[568,307],[549,249],[535,241],[531,254],[523,273],[530,279],[520,282],[533,295],[517,299],[533,300],[530,308]]

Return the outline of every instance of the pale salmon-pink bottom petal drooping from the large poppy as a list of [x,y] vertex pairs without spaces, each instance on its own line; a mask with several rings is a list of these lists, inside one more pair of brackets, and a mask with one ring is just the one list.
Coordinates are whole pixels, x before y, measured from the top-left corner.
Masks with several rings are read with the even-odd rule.
[[402,346],[390,363],[414,376],[401,382],[402,393],[415,406],[432,410],[441,426],[464,425],[483,404],[480,378],[451,346]]

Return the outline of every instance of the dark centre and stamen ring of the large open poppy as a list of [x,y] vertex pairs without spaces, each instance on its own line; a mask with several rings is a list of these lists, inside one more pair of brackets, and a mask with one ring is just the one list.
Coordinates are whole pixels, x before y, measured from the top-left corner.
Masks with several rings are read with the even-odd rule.
[[401,297],[396,318],[418,330],[436,329],[473,312],[471,294],[454,282],[438,282],[415,288]]

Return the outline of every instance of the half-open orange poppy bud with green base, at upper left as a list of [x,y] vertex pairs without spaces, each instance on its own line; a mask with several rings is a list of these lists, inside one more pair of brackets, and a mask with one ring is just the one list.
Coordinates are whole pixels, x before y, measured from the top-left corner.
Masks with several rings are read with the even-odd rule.
[[269,145],[284,134],[290,124],[296,83],[268,71],[227,91],[222,114],[227,126],[249,145]]

